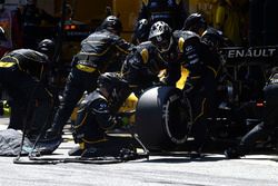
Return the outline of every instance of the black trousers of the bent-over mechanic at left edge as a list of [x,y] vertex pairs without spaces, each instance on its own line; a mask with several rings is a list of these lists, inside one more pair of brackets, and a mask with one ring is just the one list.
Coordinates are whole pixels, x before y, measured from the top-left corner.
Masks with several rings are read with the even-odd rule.
[[[52,111],[52,95],[46,86],[16,66],[0,68],[1,84],[11,97],[11,116],[8,128],[38,133]],[[24,124],[27,121],[27,124]]]

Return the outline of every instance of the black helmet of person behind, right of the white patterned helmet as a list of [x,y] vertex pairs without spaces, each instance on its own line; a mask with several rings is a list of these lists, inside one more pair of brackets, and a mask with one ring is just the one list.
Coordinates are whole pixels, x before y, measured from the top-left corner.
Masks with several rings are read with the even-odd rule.
[[185,20],[182,30],[198,32],[200,28],[207,28],[205,18],[200,13],[192,13]]

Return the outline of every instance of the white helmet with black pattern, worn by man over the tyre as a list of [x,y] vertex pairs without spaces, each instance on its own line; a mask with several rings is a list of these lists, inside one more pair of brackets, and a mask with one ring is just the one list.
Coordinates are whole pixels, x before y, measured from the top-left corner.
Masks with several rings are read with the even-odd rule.
[[155,22],[150,28],[149,40],[159,51],[168,51],[172,45],[171,28],[163,21]]

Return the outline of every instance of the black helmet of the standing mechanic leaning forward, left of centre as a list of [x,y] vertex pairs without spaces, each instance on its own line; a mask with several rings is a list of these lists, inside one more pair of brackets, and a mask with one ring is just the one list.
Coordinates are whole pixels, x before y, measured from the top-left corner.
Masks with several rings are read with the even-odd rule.
[[116,16],[109,16],[101,23],[101,28],[120,33],[122,30],[122,25],[119,18],[117,18]]

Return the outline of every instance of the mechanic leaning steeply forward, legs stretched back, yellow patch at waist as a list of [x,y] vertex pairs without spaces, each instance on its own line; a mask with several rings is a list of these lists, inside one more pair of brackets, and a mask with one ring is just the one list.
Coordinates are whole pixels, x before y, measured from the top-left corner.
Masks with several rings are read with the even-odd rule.
[[99,29],[81,42],[81,51],[72,59],[63,98],[46,138],[61,138],[63,126],[83,92],[95,90],[98,76],[115,61],[120,61],[118,58],[121,58],[121,55],[130,52],[131,45],[119,37],[121,29],[119,18],[109,16]]

